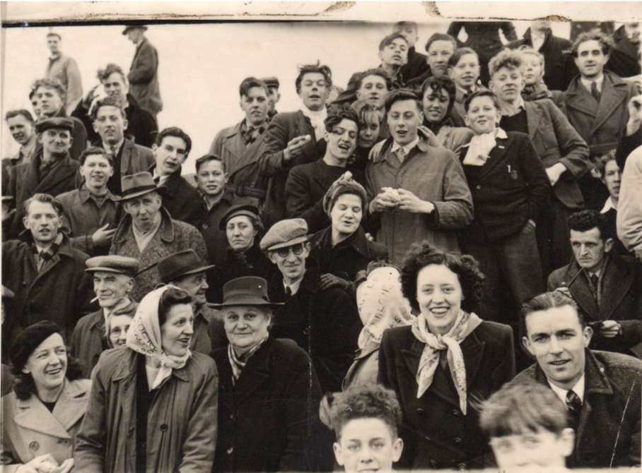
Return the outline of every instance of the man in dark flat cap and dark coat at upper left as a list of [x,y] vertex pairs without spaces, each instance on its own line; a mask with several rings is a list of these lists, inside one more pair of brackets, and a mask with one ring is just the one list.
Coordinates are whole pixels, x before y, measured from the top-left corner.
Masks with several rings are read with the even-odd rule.
[[48,118],[38,122],[35,131],[42,148],[37,150],[31,162],[16,166],[9,180],[7,195],[13,196],[18,209],[9,232],[11,238],[17,238],[23,230],[21,207],[25,200],[36,193],[55,197],[76,188],[79,164],[69,155],[74,123],[68,118]]

